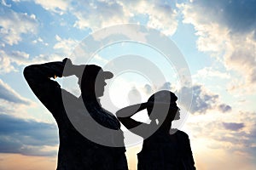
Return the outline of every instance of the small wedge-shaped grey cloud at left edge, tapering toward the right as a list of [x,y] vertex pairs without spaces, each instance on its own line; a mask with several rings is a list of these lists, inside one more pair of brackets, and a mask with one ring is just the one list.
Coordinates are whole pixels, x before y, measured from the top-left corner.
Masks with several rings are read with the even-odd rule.
[[20,94],[16,93],[14,89],[10,88],[9,85],[3,80],[0,79],[0,99],[4,99],[6,101],[15,103],[15,104],[23,104],[30,105],[31,102],[28,99],[25,99],[20,96]]

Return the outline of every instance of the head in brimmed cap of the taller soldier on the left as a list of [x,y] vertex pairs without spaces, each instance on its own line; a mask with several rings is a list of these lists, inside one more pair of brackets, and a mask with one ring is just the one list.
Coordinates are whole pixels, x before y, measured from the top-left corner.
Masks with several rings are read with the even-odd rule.
[[106,79],[113,77],[110,71],[103,71],[98,65],[86,65],[84,73],[79,78],[79,87],[84,97],[99,98],[104,93],[104,87],[107,85]]

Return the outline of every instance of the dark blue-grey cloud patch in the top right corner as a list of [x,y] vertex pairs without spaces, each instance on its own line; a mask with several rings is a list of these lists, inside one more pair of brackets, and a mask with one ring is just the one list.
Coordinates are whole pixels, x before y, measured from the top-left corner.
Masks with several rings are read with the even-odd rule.
[[195,10],[201,10],[205,17],[228,26],[232,32],[255,30],[255,0],[195,0],[193,5],[195,5]]

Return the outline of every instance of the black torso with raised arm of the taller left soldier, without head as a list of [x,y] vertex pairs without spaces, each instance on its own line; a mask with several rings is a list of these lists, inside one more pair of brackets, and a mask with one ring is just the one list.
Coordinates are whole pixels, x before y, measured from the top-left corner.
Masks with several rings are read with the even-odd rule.
[[[81,99],[61,89],[57,82],[49,79],[49,77],[61,77],[63,67],[62,62],[52,62],[43,65],[30,65],[24,71],[24,76],[32,91],[52,113],[58,124],[60,146],[57,169],[128,169],[125,147],[115,148],[96,144],[86,139],[73,127],[65,111],[61,92],[67,100],[72,101],[69,109],[73,111],[74,117],[78,117],[77,123],[80,123],[84,128],[86,128],[86,121],[84,122],[84,120],[87,120],[86,116],[89,115],[78,106]],[[86,101],[86,109],[96,122],[104,127],[117,130],[119,140],[123,141],[123,133],[120,131],[120,124],[115,116],[103,110],[101,105],[98,105],[94,100]],[[97,135],[96,129],[89,130],[94,130],[93,132]],[[106,134],[105,136],[99,136],[99,138],[112,138],[112,136]]]

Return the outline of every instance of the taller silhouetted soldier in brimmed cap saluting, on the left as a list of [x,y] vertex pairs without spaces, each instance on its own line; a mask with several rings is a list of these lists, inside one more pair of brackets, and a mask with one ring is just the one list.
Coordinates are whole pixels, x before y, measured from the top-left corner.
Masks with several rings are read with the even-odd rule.
[[[63,75],[66,63],[69,68],[66,73],[64,71],[65,75]],[[59,127],[60,145],[57,170],[126,170],[128,167],[125,147],[109,147],[90,141],[90,139],[79,133],[67,115],[67,110],[72,111],[73,116],[78,120],[77,123],[80,123],[85,130],[95,133],[97,138],[102,140],[112,139],[112,134],[104,134],[102,136],[97,133],[97,129],[87,127],[90,122],[86,122],[84,117],[86,118],[90,114],[97,123],[115,130],[119,140],[124,140],[118,119],[113,114],[102,109],[99,103],[99,97],[103,95],[104,86],[106,85],[105,79],[112,78],[113,74],[109,71],[102,71],[102,68],[97,65],[86,65],[83,76],[79,77],[81,66],[84,68],[83,65],[73,65],[70,59],[63,59],[62,62],[29,65],[24,70],[24,77],[30,88],[32,88],[33,93],[52,113]],[[68,77],[72,75],[79,77],[79,86],[81,88],[81,96],[79,98],[61,89],[57,82],[50,79],[51,77]],[[98,83],[96,83],[96,78]],[[61,94],[67,99],[66,105],[69,104],[69,107],[64,107],[65,104],[63,104]],[[81,100],[84,101],[87,112],[80,107]]]

